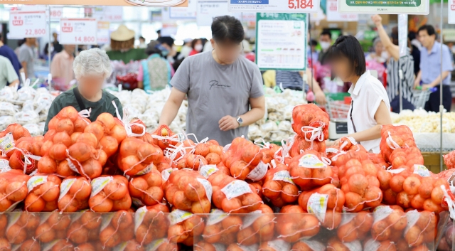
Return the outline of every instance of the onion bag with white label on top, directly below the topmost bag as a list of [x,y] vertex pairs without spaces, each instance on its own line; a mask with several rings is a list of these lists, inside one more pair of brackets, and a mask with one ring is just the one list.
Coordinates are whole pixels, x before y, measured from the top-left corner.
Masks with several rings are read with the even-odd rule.
[[292,181],[300,186],[302,191],[308,191],[317,186],[336,183],[330,160],[325,154],[307,150],[291,159],[289,173]]

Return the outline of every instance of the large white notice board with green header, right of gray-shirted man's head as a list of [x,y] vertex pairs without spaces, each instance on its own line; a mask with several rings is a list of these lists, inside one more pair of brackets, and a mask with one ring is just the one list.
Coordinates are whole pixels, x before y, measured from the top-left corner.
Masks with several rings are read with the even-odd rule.
[[256,63],[261,70],[305,70],[307,16],[257,13]]

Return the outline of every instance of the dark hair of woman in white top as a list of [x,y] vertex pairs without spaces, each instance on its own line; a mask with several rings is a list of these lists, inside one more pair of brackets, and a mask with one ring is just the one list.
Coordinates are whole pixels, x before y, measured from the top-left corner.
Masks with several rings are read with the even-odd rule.
[[355,75],[360,76],[365,73],[365,53],[354,36],[339,36],[333,46],[328,49],[329,62],[342,57],[348,58],[349,63],[354,65]]

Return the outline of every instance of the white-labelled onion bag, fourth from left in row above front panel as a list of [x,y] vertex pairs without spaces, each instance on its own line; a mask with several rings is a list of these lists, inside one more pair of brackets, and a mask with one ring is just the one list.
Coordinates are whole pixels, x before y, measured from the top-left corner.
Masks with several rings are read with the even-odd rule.
[[128,180],[124,176],[100,176],[91,182],[88,205],[95,212],[113,212],[131,208]]

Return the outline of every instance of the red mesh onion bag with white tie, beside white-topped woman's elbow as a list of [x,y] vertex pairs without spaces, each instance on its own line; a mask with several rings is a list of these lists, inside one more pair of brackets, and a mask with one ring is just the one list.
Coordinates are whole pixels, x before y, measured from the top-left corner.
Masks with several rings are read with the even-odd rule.
[[387,124],[382,126],[381,142],[379,146],[385,161],[389,161],[389,156],[392,154],[393,150],[417,145],[415,144],[412,131],[409,127],[405,125],[395,127],[391,124]]

